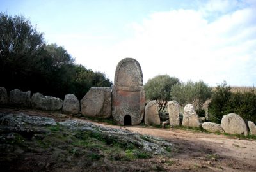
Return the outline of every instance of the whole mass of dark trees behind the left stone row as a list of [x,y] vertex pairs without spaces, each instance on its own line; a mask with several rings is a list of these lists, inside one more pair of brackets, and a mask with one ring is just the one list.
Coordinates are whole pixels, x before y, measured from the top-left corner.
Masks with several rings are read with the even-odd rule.
[[81,99],[90,87],[108,87],[104,73],[74,64],[63,47],[46,45],[44,36],[22,16],[0,13],[0,86]]

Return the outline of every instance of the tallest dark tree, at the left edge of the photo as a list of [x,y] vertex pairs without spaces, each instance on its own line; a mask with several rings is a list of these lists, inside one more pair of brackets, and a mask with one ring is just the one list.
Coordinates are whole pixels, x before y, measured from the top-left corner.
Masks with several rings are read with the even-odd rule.
[[44,46],[43,34],[28,19],[0,13],[1,85],[27,87]]

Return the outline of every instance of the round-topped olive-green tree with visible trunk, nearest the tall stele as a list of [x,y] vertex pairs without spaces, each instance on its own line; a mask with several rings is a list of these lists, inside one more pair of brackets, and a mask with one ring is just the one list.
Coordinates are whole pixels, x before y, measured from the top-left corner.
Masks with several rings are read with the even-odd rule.
[[158,111],[166,111],[166,104],[171,99],[170,91],[179,79],[169,75],[157,75],[144,85],[146,99],[156,100]]

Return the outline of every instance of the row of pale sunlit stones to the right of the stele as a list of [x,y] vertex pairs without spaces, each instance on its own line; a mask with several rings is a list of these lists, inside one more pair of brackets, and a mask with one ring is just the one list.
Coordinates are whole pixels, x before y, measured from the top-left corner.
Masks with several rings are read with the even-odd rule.
[[[184,108],[182,122],[180,122],[179,103],[177,101],[168,102],[169,111],[169,124],[172,127],[182,126],[185,127],[202,127],[210,132],[223,132],[229,134],[244,134],[248,135],[248,128],[250,133],[256,135],[256,126],[253,122],[248,121],[248,125],[244,122],[243,118],[235,113],[224,115],[221,119],[221,124],[213,122],[200,123],[198,115],[196,114],[195,107],[192,104],[187,104]],[[157,109],[157,102],[150,101],[145,107],[145,124],[146,125],[160,125],[161,121]]]

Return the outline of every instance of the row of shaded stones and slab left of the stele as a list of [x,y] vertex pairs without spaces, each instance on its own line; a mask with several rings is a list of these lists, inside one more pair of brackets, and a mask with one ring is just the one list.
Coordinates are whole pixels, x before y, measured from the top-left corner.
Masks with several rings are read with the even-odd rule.
[[64,101],[60,98],[44,96],[39,92],[31,97],[31,91],[23,92],[19,89],[11,90],[8,97],[6,89],[0,87],[0,105],[109,118],[111,116],[111,87],[92,87],[81,101],[74,94],[66,94]]

